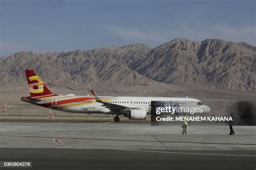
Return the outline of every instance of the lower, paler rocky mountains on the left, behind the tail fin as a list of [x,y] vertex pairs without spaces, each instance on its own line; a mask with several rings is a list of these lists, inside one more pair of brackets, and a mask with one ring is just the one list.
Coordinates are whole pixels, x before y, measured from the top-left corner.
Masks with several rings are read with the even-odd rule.
[[[25,84],[24,69],[35,69],[44,82],[62,85],[134,86],[147,78],[131,69],[150,48],[143,44],[62,53],[18,52],[0,61],[0,86]],[[110,86],[110,85],[109,85]]]

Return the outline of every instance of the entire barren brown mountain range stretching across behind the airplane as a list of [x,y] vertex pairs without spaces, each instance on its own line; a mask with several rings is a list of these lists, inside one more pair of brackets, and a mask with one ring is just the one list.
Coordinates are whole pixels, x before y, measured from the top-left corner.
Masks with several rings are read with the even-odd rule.
[[143,81],[221,89],[255,90],[256,47],[220,39],[174,39],[87,51],[17,52],[0,59],[0,86],[25,84],[24,69],[35,69],[59,86],[136,86]]

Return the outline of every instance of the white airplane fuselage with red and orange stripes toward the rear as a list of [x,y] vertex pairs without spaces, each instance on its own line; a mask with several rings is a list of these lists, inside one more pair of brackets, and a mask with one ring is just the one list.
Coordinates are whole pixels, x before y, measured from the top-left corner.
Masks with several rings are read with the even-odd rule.
[[[83,100],[83,98],[88,98]],[[150,112],[151,101],[171,101],[173,104],[179,107],[198,107],[203,106],[204,112],[210,111],[207,105],[201,103],[201,101],[194,98],[187,97],[131,97],[131,96],[100,96],[102,101],[106,103],[112,103],[116,105],[121,105],[129,108],[144,108],[147,112]],[[110,109],[103,106],[93,98],[93,96],[55,96],[51,99],[52,105],[50,108],[67,111],[67,112],[77,112],[77,113],[102,113],[102,114],[119,114],[116,111],[111,111]],[[64,101],[64,102],[63,102]],[[69,102],[65,102],[69,101]],[[59,103],[59,104],[57,104]],[[39,104],[39,103],[38,103]],[[199,105],[200,104],[200,105]],[[41,104],[39,104],[41,105]]]

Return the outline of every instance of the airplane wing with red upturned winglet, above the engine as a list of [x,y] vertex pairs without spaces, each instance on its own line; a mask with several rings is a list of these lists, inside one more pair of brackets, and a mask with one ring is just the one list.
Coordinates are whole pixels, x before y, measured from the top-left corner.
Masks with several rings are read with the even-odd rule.
[[95,100],[97,102],[102,103],[105,108],[108,108],[111,111],[125,113],[125,112],[127,112],[129,110],[132,110],[132,109],[143,109],[143,108],[125,107],[123,105],[118,105],[118,104],[113,104],[113,103],[106,103],[106,102],[103,102],[102,100],[100,100],[100,98],[96,95],[96,93],[93,90],[91,90],[91,93],[95,97]]

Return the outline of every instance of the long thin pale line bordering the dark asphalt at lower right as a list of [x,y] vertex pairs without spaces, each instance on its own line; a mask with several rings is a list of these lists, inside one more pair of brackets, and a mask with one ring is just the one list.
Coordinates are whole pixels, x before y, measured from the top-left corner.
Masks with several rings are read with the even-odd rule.
[[120,151],[175,153],[175,154],[191,154],[191,155],[215,155],[215,156],[233,156],[233,157],[256,157],[256,155],[247,155],[247,154],[190,153],[190,152],[167,152],[167,151],[149,151],[149,150],[120,150]]

